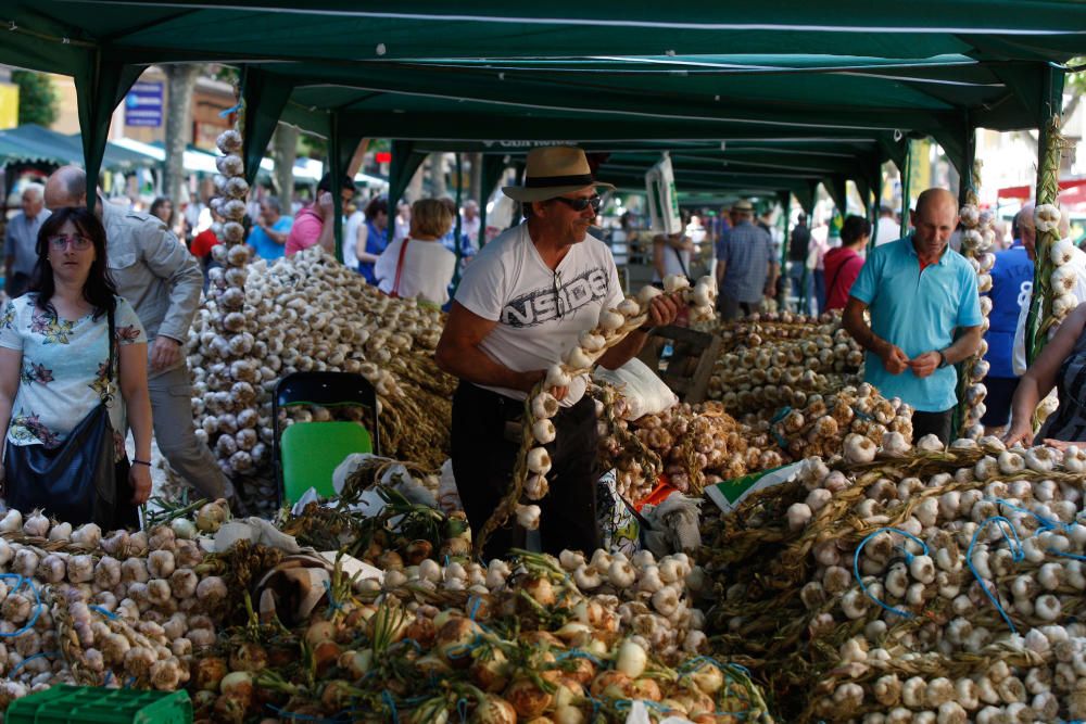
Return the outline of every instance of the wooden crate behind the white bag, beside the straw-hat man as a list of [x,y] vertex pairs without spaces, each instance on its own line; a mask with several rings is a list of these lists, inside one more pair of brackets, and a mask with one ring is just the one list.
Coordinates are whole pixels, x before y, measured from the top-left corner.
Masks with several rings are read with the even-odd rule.
[[[660,354],[669,341],[672,354],[661,361]],[[715,334],[696,332],[685,327],[659,327],[649,334],[637,356],[660,376],[672,392],[679,395],[679,399],[699,403],[705,399],[721,344],[720,338]]]

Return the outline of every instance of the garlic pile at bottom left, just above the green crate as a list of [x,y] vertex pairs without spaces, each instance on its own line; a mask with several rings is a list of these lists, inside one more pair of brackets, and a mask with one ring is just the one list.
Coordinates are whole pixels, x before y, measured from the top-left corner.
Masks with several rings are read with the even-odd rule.
[[55,684],[175,690],[217,640],[225,581],[191,536],[224,503],[149,532],[73,530],[38,511],[0,519],[0,709]]

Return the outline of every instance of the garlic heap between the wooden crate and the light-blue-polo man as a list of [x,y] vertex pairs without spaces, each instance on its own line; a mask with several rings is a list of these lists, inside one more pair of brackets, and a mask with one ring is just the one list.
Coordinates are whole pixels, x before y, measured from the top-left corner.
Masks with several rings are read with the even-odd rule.
[[771,417],[783,406],[801,407],[808,395],[860,381],[863,352],[839,314],[823,315],[818,326],[752,316],[719,333],[729,351],[717,360],[708,396],[736,417]]

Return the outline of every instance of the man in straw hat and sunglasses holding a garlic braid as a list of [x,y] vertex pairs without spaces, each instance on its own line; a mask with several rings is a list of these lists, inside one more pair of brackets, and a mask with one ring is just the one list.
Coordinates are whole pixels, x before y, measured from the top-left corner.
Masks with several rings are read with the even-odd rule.
[[[504,193],[521,203],[526,220],[488,243],[467,267],[434,358],[460,379],[453,398],[452,460],[456,487],[478,534],[506,495],[520,450],[525,399],[546,368],[579,344],[601,312],[623,299],[618,271],[604,242],[589,236],[599,209],[584,152],[550,147],[528,154],[525,185]],[[611,347],[599,364],[623,365],[653,326],[671,323],[679,305],[670,295],[652,302],[649,320]],[[550,392],[560,402],[556,435],[546,445],[552,468],[541,508],[543,549],[591,551],[596,528],[595,405],[586,380]],[[483,555],[522,545],[507,524],[488,538]]]

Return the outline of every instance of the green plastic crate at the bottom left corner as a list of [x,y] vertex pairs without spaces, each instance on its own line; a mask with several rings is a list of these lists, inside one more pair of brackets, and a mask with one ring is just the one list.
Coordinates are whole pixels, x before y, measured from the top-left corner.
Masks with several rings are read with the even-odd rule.
[[188,691],[142,691],[62,684],[16,699],[4,724],[192,724]]

